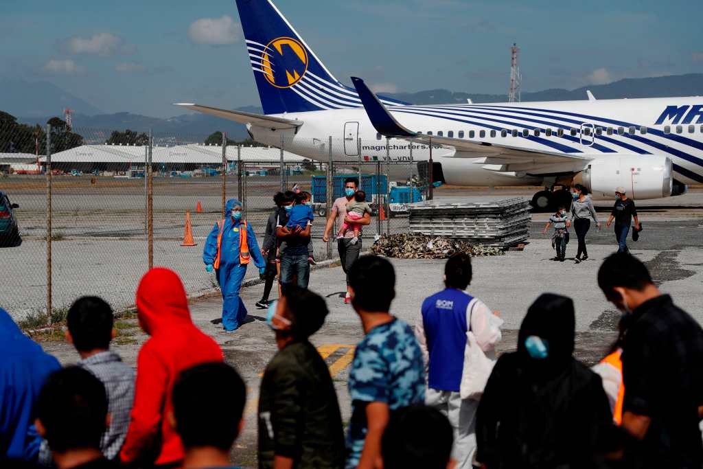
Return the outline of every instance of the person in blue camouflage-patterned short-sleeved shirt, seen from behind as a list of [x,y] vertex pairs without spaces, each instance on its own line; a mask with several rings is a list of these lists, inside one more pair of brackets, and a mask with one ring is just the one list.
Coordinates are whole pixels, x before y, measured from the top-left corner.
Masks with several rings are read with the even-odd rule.
[[349,271],[349,287],[366,337],[356,346],[349,372],[346,467],[367,469],[380,457],[390,412],[425,401],[425,366],[413,329],[388,312],[395,297],[391,263],[362,257]]

